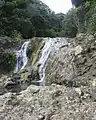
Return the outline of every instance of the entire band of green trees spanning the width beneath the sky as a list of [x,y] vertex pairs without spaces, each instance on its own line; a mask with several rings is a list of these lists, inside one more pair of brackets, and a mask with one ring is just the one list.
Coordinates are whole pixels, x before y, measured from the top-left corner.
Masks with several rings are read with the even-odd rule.
[[72,4],[76,8],[65,15],[55,14],[40,0],[2,0],[0,35],[16,37],[19,34],[23,38],[32,38],[75,37],[78,32],[94,33],[96,1],[72,0]]

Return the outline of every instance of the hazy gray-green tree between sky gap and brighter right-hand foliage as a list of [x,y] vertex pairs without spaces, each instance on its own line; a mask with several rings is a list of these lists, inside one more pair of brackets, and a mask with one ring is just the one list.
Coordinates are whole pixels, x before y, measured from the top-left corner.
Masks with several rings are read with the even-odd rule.
[[62,31],[60,34],[63,34],[62,36],[65,37],[75,37],[78,32],[76,22],[76,11],[75,9],[71,9],[62,21]]

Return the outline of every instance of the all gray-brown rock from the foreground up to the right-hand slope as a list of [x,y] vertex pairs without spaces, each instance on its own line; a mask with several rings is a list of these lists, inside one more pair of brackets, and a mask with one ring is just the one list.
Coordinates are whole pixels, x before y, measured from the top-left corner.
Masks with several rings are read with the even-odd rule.
[[32,85],[40,77],[41,49],[34,52],[32,66],[1,77],[0,120],[96,120],[95,36],[79,34],[68,41],[50,54],[45,86]]

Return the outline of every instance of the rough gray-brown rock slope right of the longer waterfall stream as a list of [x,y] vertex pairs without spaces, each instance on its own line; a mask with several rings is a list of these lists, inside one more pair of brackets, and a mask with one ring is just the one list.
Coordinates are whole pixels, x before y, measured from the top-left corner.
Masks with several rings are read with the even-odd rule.
[[45,82],[68,87],[90,86],[96,78],[96,41],[92,35],[79,34],[69,47],[61,48],[49,60]]

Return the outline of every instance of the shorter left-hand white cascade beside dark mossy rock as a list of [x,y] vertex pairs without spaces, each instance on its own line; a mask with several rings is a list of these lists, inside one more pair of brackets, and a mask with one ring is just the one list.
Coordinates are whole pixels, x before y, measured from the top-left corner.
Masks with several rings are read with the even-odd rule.
[[24,42],[21,49],[19,51],[16,51],[16,66],[14,73],[17,73],[19,70],[24,69],[24,67],[26,66],[28,62],[27,48],[29,43],[30,41]]

